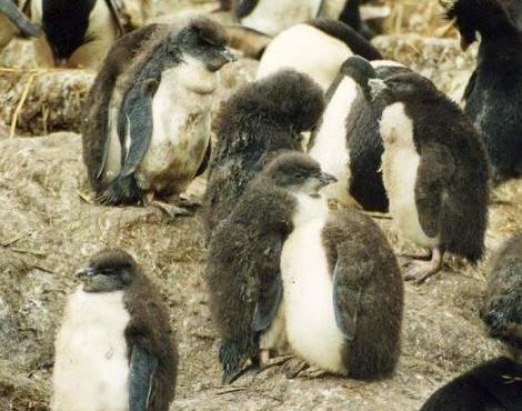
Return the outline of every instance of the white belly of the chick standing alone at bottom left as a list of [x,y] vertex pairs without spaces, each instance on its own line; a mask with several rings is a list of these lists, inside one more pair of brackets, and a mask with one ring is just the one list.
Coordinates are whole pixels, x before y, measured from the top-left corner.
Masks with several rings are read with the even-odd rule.
[[56,340],[54,411],[127,411],[129,362],[124,329],[130,315],[123,292],[69,299]]

